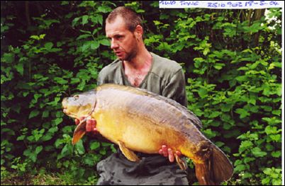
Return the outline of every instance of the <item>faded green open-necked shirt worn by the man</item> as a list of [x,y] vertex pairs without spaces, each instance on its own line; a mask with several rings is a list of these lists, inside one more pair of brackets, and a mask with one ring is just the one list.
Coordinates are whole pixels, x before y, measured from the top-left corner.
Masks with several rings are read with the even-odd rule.
[[[171,98],[186,106],[185,78],[181,66],[177,62],[160,57],[152,52],[150,54],[152,55],[152,66],[145,79],[140,83],[139,88]],[[132,86],[125,76],[121,60],[116,59],[100,71],[98,84],[103,83]]]

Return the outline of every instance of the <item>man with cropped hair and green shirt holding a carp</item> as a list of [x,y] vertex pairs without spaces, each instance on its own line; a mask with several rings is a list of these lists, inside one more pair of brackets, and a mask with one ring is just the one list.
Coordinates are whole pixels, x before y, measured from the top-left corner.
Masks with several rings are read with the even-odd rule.
[[[100,71],[99,85],[116,83],[145,88],[186,106],[181,66],[147,51],[140,16],[129,8],[114,9],[106,19],[106,37],[118,59]],[[96,132],[96,121],[88,120],[86,131]],[[173,163],[174,153],[181,153],[172,152],[167,146],[157,151],[162,156],[138,153],[139,163],[128,161],[121,152],[113,153],[97,164],[101,176],[97,185],[188,185],[186,171]]]

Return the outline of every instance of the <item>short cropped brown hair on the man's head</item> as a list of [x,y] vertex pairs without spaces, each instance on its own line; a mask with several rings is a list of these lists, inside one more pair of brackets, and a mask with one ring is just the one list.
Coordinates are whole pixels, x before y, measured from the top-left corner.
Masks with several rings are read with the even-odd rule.
[[132,33],[135,31],[137,25],[143,26],[142,18],[140,18],[138,13],[135,13],[135,11],[125,6],[119,6],[113,9],[113,11],[108,15],[108,18],[106,18],[106,22],[108,21],[108,23],[112,23],[115,21],[117,16],[121,16],[123,18],[125,25]]

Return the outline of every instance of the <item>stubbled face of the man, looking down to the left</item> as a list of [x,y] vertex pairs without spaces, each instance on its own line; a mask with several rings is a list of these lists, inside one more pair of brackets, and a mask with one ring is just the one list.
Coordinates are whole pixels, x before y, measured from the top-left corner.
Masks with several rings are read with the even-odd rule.
[[111,40],[111,49],[120,60],[130,61],[138,52],[138,42],[134,33],[125,26],[125,21],[118,16],[112,23],[106,23],[106,37]]

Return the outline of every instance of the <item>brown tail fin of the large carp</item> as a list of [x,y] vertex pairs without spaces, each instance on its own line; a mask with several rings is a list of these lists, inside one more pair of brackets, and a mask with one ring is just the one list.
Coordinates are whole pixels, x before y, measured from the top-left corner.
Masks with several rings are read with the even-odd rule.
[[220,185],[220,182],[229,180],[233,175],[232,163],[217,146],[213,146],[210,158],[203,163],[195,163],[195,168],[200,185]]

